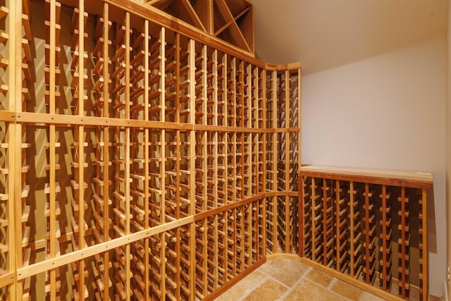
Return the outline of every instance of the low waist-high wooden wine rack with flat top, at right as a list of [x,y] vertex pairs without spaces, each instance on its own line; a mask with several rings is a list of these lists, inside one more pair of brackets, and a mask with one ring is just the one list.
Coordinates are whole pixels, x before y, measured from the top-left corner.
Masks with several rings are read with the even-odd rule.
[[302,166],[299,177],[300,257],[385,299],[428,300],[431,173]]

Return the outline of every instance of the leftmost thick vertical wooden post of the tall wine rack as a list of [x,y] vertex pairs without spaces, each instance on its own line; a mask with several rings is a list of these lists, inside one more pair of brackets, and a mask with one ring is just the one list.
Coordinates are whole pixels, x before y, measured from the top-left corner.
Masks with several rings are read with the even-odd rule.
[[[8,94],[6,94],[6,104],[4,108],[9,111],[22,111],[22,24],[18,20],[22,17],[22,6],[16,1],[8,2],[8,18],[5,20],[4,26],[8,29],[8,44],[6,45],[7,51],[10,56],[8,59]],[[5,10],[2,9],[4,12]],[[6,15],[5,15],[6,16]],[[2,32],[3,33],[3,32]],[[6,33],[5,33],[6,34]],[[20,53],[20,55],[19,55]],[[16,54],[15,56],[13,54]],[[22,224],[21,216],[23,210],[23,204],[25,199],[22,197],[22,187],[25,186],[25,180],[23,180],[21,174],[21,167],[23,160],[23,154],[25,153],[20,146],[22,145],[23,128],[21,125],[9,123],[6,125],[8,128],[4,128],[2,131],[5,134],[4,141],[8,145],[6,149],[6,157],[4,164],[9,170],[9,175],[6,178],[4,185],[5,194],[0,194],[0,201],[6,200],[6,204],[2,204],[4,210],[6,210],[6,219],[8,219],[9,226],[4,235],[6,236],[6,244],[8,247],[8,254],[2,254],[4,258],[4,266],[1,266],[0,271],[0,287],[6,286],[6,299],[11,298],[15,300],[23,294],[23,283],[17,281],[17,277],[13,273],[16,266],[22,266]],[[3,153],[5,154],[5,153]],[[15,216],[17,212],[17,215]],[[20,214],[19,214],[20,212]],[[6,270],[5,270],[6,269]],[[9,294],[9,295],[8,295]]]

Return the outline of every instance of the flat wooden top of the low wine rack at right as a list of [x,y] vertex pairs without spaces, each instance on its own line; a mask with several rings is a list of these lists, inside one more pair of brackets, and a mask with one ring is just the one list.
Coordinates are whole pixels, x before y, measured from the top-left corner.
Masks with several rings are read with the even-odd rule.
[[433,175],[429,171],[398,171],[392,169],[358,168],[342,166],[307,165],[299,173],[317,178],[353,180],[409,188],[433,187]]

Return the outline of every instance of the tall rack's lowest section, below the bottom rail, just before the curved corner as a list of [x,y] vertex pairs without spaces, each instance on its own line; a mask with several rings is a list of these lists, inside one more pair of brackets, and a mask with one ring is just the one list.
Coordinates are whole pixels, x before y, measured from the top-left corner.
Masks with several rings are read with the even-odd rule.
[[203,298],[264,257],[264,199],[196,222],[196,295]]

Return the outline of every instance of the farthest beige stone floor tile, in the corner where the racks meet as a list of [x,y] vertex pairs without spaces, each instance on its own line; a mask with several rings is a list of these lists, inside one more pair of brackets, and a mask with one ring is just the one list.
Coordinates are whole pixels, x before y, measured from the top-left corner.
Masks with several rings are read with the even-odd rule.
[[259,271],[276,278],[281,283],[292,286],[309,269],[307,264],[291,259],[269,260],[259,268]]

